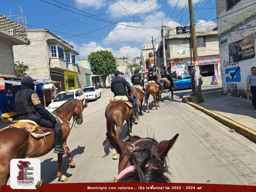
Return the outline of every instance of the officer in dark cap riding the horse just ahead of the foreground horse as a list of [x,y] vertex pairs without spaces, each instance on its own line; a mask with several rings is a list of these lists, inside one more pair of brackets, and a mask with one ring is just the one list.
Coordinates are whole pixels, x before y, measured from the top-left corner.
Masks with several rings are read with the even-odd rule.
[[[137,103],[136,103],[136,100],[133,97],[131,97],[132,88],[131,88],[130,84],[123,77],[121,77],[120,71],[115,71],[114,75],[115,75],[115,79],[113,79],[111,81],[111,91],[114,93],[114,97],[126,95],[129,99],[129,101],[132,102],[133,118],[136,118],[137,117]],[[126,90],[126,88],[127,88],[127,90]]]

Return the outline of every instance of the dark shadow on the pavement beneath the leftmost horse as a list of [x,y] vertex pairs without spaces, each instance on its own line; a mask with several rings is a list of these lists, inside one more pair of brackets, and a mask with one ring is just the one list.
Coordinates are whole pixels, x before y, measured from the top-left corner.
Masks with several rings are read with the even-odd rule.
[[[79,156],[84,152],[84,149],[85,146],[80,147],[78,145],[76,149],[70,152],[70,155],[73,158],[74,163],[76,163],[76,158],[79,158]],[[41,162],[41,178],[44,179],[44,183],[51,183],[57,178],[58,161],[51,161],[52,159],[53,158],[49,158]],[[67,173],[67,170],[69,168],[71,167],[69,166],[68,156],[65,155],[62,160],[61,172],[68,178],[72,176],[72,174]]]

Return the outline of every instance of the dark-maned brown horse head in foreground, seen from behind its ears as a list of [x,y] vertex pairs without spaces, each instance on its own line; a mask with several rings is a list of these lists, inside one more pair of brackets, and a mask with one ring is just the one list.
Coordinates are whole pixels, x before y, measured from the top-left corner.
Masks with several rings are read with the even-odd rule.
[[115,182],[170,182],[166,156],[179,134],[158,143],[152,138],[134,136],[121,141],[106,133],[110,145],[120,154]]

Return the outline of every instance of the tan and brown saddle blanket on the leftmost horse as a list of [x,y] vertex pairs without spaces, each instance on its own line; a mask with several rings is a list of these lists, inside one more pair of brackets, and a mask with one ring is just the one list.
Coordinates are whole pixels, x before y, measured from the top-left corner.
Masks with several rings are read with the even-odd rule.
[[[55,116],[57,121],[63,124],[62,120],[58,116],[56,116],[55,114],[53,115]],[[8,128],[10,127],[25,129],[35,138],[45,137],[53,133],[51,128],[39,126],[35,121],[26,120],[26,119],[19,120],[17,123],[14,123],[8,126]]]

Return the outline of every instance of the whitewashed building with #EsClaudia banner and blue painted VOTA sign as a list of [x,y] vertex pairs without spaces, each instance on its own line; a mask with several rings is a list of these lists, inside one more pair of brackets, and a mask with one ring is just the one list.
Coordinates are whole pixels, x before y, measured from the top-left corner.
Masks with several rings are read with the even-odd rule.
[[246,79],[256,62],[255,2],[216,0],[216,7],[223,93],[250,99]]

